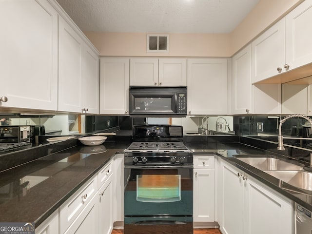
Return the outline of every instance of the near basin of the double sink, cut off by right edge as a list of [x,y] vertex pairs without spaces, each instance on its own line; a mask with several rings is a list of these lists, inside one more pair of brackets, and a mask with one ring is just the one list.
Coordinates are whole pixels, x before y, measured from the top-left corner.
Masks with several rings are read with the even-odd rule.
[[312,191],[312,173],[304,171],[265,171],[284,182],[300,188]]

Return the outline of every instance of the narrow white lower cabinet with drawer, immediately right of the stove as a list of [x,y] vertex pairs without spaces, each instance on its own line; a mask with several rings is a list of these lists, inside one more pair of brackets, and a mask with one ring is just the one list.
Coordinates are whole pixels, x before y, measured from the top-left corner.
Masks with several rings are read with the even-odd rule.
[[193,180],[194,222],[215,221],[214,187],[215,187],[214,156],[195,155],[194,180]]

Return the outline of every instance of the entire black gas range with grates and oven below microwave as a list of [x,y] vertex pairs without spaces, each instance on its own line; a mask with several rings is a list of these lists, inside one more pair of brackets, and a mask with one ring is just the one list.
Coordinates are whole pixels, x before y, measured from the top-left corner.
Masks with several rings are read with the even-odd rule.
[[182,126],[133,126],[124,151],[124,234],[193,234],[193,152],[182,139]]

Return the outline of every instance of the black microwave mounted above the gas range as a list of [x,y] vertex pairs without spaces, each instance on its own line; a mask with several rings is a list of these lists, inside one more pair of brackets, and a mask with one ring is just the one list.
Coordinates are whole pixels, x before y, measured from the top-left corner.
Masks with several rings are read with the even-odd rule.
[[130,86],[130,117],[186,117],[187,86]]

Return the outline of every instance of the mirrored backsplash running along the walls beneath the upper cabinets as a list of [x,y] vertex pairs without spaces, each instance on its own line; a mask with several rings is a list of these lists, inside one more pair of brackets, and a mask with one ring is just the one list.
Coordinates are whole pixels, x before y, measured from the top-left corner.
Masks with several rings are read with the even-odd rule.
[[[95,132],[121,131],[131,135],[134,124],[182,125],[184,134],[237,135],[277,142],[279,121],[286,116],[187,116],[179,118],[131,118],[129,116],[84,116],[84,115],[0,115],[1,125],[35,125],[43,136],[67,136]],[[309,121],[293,117],[282,124],[284,137],[312,137]],[[312,149],[312,140],[285,139],[284,144]]]

